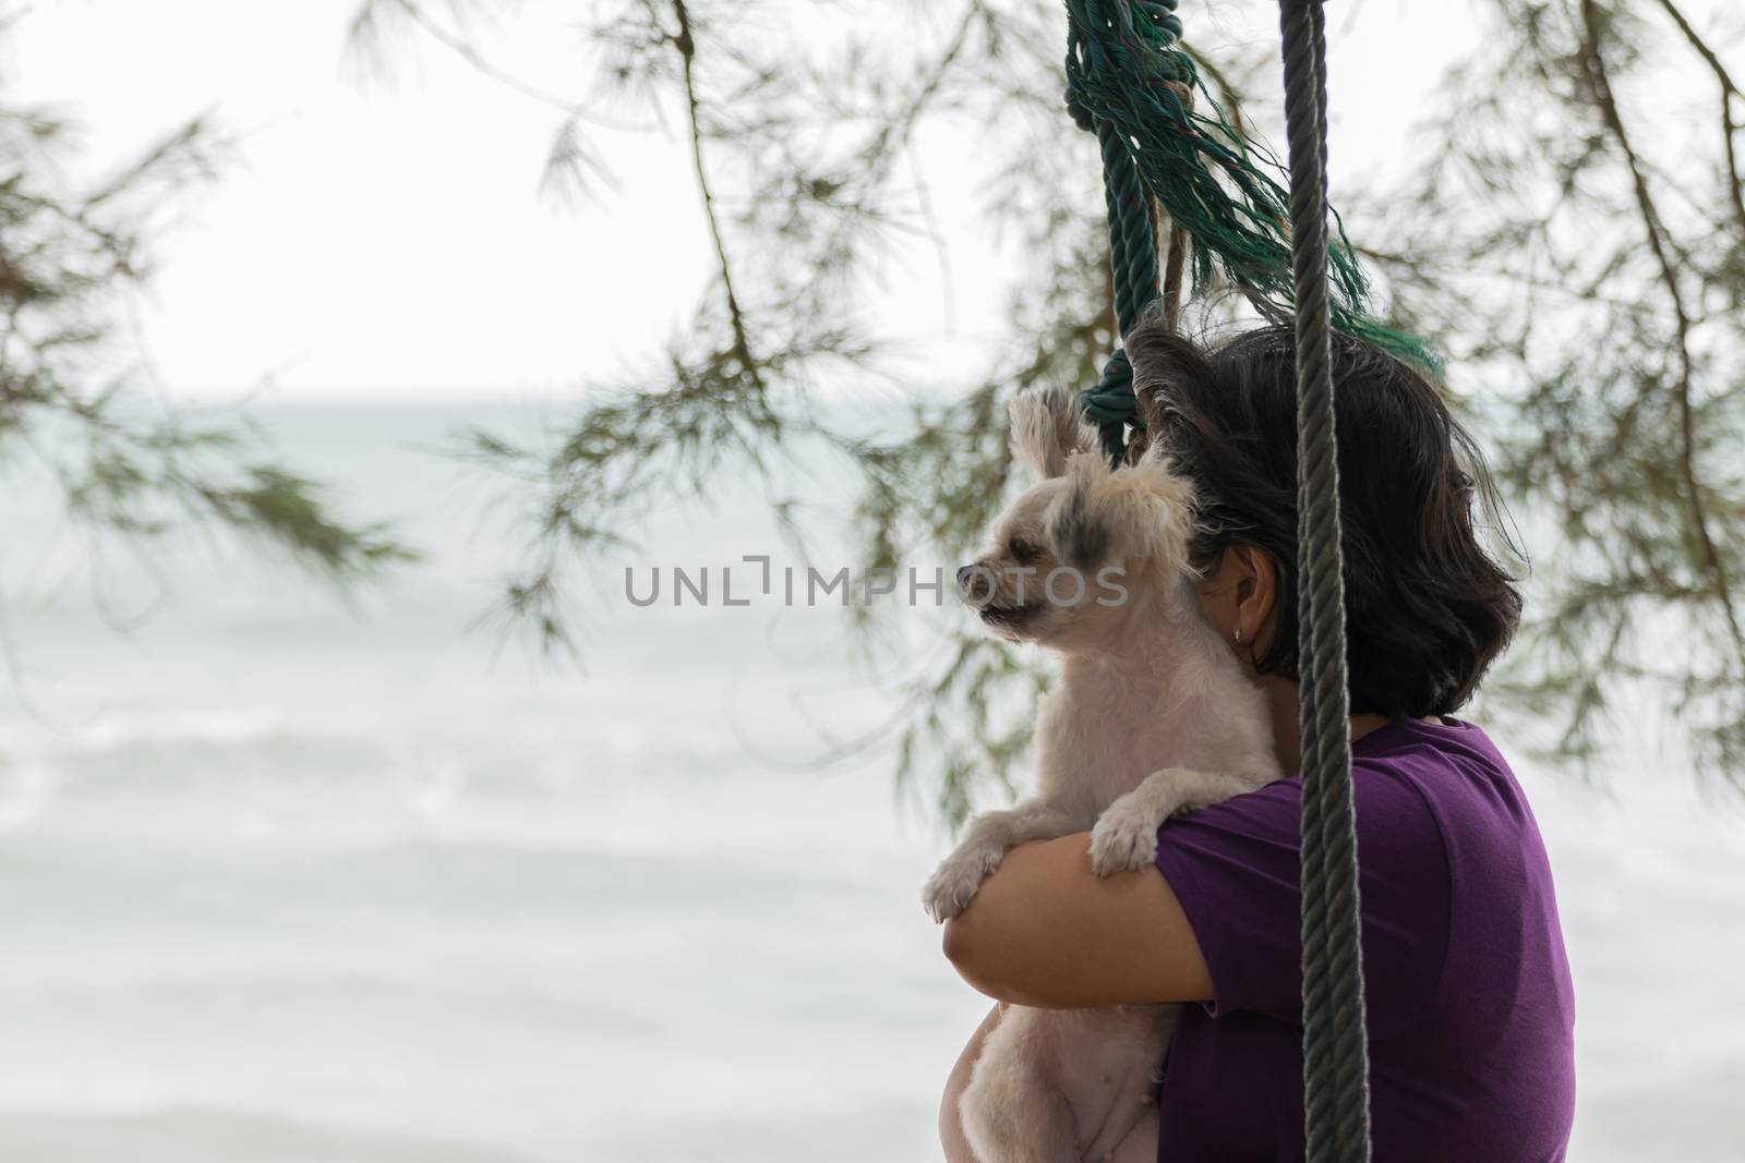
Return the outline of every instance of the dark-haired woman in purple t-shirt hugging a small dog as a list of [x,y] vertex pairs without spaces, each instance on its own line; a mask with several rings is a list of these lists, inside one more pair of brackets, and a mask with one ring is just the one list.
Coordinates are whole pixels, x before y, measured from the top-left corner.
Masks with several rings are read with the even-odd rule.
[[[1199,488],[1206,617],[1297,771],[1291,337],[1202,352],[1146,324],[1127,352],[1146,429]],[[1520,616],[1475,528],[1483,466],[1405,364],[1342,337],[1333,375],[1375,1158],[1562,1160],[1574,996],[1551,872],[1508,764],[1450,718]],[[1173,820],[1155,870],[1106,881],[1089,833],[1023,846],[946,928],[953,966],[1002,1004],[1190,1003],[1155,1107],[1113,1112],[1134,1119],[1122,1163],[1304,1156],[1300,792],[1291,776]],[[946,1086],[953,1163],[972,1160],[956,1100],[996,1020]]]

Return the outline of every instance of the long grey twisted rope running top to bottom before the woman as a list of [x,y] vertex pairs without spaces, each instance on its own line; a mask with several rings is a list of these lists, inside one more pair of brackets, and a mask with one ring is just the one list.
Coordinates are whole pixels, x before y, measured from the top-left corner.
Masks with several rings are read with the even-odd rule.
[[1297,302],[1305,1160],[1368,1163],[1370,1060],[1328,302],[1326,14],[1321,0],[1281,0],[1279,16]]

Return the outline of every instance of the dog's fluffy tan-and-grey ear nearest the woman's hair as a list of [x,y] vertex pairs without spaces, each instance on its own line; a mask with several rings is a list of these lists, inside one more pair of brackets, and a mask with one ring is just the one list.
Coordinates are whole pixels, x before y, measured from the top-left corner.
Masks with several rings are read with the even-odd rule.
[[1049,542],[1061,561],[1094,568],[1117,558],[1153,558],[1188,568],[1194,486],[1166,457],[1110,469],[1101,455],[1068,462],[1066,490],[1049,506]]

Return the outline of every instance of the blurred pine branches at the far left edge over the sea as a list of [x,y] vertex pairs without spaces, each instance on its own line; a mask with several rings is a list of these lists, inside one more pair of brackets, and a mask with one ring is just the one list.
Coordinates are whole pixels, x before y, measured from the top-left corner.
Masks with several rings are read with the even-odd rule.
[[51,479],[92,553],[194,525],[340,582],[410,556],[384,527],[335,518],[243,420],[150,391],[129,295],[154,232],[222,160],[211,126],[190,120],[91,181],[70,178],[75,139],[56,110],[0,103],[0,469]]

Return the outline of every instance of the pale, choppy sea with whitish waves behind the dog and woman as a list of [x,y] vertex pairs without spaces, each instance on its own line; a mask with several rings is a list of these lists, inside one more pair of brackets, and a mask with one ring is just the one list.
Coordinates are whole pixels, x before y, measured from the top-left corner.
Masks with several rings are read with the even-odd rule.
[[[253,408],[421,549],[349,591],[216,534],[91,541],[0,460],[0,1160],[939,1158],[988,1003],[921,912],[949,833],[888,724],[961,614],[899,595],[874,657],[763,593],[745,556],[846,558],[852,492],[808,469],[801,558],[728,473],[578,572],[548,657],[494,617],[527,495],[450,452],[555,415]],[[1659,720],[1586,774],[1499,732],[1574,966],[1570,1160],[1745,1158],[1745,806]]]

